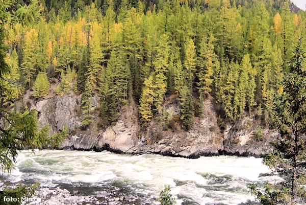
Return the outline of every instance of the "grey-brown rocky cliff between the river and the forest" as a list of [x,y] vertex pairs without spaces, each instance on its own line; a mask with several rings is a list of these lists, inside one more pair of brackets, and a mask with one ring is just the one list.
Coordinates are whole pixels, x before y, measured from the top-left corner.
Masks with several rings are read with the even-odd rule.
[[[244,117],[236,123],[223,122],[220,126],[216,111],[218,106],[212,97],[203,102],[201,118],[195,117],[193,126],[186,131],[180,126],[180,108],[176,96],[167,99],[162,115],[155,117],[145,128],[139,125],[137,106],[132,101],[121,108],[119,119],[114,125],[100,128],[96,115],[94,123],[87,130],[80,129],[79,95],[49,94],[40,101],[29,96],[31,92],[28,90],[23,101],[38,111],[42,125],[50,125],[50,134],[68,126],[70,135],[61,149],[156,153],[190,158],[219,154],[259,156],[272,151],[269,143],[278,135],[275,130],[261,129],[253,116]],[[97,96],[93,98],[92,104],[91,109],[98,110]]]

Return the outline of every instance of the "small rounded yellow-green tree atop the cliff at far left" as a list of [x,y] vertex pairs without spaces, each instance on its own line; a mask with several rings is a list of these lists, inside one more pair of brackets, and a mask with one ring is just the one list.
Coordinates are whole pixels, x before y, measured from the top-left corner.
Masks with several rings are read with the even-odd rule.
[[43,98],[48,95],[50,90],[50,83],[45,72],[40,72],[33,85],[34,97]]

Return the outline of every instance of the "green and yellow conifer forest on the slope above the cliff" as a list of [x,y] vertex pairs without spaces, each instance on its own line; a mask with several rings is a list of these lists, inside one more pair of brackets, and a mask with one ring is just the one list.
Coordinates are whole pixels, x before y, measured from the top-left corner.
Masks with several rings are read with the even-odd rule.
[[208,98],[221,132],[248,116],[273,128],[273,95],[283,92],[295,37],[306,32],[305,12],[281,0],[32,0],[20,7],[36,24],[24,24],[30,15],[22,9],[19,23],[5,22],[8,77],[19,82],[15,99],[28,99],[18,107],[80,96],[75,129],[83,130],[116,124],[131,104],[145,129],[164,116],[169,99],[179,111],[167,123],[189,130],[194,117],[210,115]]

